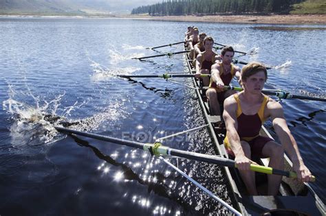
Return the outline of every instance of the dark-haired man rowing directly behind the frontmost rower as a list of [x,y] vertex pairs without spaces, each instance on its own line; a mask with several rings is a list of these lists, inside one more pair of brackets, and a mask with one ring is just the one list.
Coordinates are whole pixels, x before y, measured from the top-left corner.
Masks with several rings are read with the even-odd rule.
[[223,105],[224,99],[235,94],[235,91],[224,90],[224,86],[228,86],[235,76],[240,80],[241,70],[232,64],[232,58],[235,51],[232,47],[224,47],[221,50],[221,62],[212,65],[209,88],[206,96],[210,105],[210,115],[221,115],[220,104]]

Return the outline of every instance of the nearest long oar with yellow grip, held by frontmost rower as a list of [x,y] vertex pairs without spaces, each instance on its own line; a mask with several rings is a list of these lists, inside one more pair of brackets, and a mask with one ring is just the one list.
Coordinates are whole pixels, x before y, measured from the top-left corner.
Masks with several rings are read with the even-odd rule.
[[[76,134],[80,136],[86,136],[93,139],[98,139],[100,141],[107,141],[111,143],[116,143],[120,145],[127,145],[130,147],[135,147],[138,149],[143,149],[144,151],[151,152],[155,156],[178,156],[181,158],[186,158],[189,160],[197,160],[205,163],[212,163],[215,165],[226,166],[226,167],[237,167],[234,160],[228,158],[221,158],[219,156],[200,154],[196,152],[186,152],[179,149],[173,149],[171,147],[163,146],[161,143],[139,143],[135,141],[127,141],[124,139],[118,139],[110,136],[103,136],[98,134],[93,134],[89,132],[82,132],[78,130],[72,130],[68,128],[54,127],[58,132],[65,132],[68,134]],[[273,169],[272,167],[265,167],[260,165],[250,165],[250,170],[257,171],[261,173],[274,174],[279,176],[287,176],[289,178],[297,178],[296,173],[292,171],[283,171],[279,169]],[[312,181],[315,177],[312,176]]]

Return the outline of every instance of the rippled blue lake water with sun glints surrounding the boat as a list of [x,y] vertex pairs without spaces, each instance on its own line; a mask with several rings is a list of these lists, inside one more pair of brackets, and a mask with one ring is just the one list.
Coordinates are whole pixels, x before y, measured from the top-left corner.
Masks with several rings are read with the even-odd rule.
[[[232,45],[257,50],[243,61],[281,66],[266,88],[325,97],[326,26],[186,23],[124,19],[0,19],[0,215],[224,215],[225,208],[149,153],[59,134],[72,128],[134,141],[204,125],[195,91],[118,74],[185,73],[184,57],[153,58],[145,49],[183,40],[188,25]],[[254,27],[263,27],[255,29]],[[305,27],[300,29],[301,27]],[[318,27],[307,29],[307,27]],[[181,51],[182,45],[160,51]],[[177,80],[191,85],[191,80]],[[325,102],[281,101],[312,187],[326,201]],[[45,115],[61,120],[45,121]],[[271,124],[268,129],[274,134]],[[205,129],[164,145],[215,154]],[[224,169],[171,159],[229,204]]]

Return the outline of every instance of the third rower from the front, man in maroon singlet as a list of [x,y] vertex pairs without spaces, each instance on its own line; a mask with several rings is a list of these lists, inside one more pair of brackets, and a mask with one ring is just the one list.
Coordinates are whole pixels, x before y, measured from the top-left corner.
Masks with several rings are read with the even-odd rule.
[[[199,53],[196,58],[196,73],[195,77],[199,78],[201,74],[210,74],[210,68],[215,63],[215,61],[219,61],[221,58],[213,51],[214,39],[211,36],[206,36],[204,38],[204,47],[205,51]],[[209,85],[209,78],[202,77],[203,85]]]

